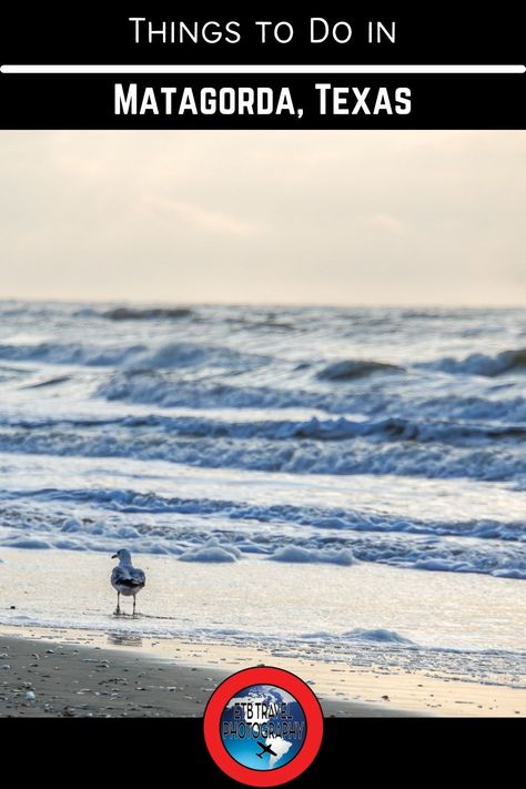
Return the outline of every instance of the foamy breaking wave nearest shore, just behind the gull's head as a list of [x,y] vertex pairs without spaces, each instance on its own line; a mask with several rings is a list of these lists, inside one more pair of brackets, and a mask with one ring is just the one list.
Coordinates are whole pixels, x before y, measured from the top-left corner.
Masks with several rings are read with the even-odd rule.
[[[498,578],[526,578],[526,546],[524,542],[494,538],[465,537],[441,534],[414,534],[397,530],[362,530],[354,528],[316,526],[312,518],[307,528],[305,515],[296,512],[297,520],[280,506],[266,509],[267,520],[250,517],[250,505],[239,504],[230,516],[209,502],[212,514],[204,515],[205,503],[173,503],[164,515],[150,502],[152,512],[160,513],[153,520],[142,508],[125,506],[131,499],[127,492],[67,492],[41,490],[38,496],[12,493],[2,505],[0,546],[27,549],[57,548],[65,550],[113,550],[117,543],[127,540],[134,552],[169,554],[183,562],[231,563],[250,557],[271,562],[330,564],[352,571],[355,563],[373,563],[418,570],[475,573]],[[107,496],[108,503],[122,506],[98,514],[98,505]],[[75,509],[84,497],[83,515]],[[140,503],[141,495],[135,494]],[[91,508],[87,508],[87,504]],[[43,506],[47,504],[47,506]],[[159,503],[158,503],[159,504]],[[14,506],[16,505],[16,506]],[[148,505],[146,505],[148,506]],[[68,508],[70,514],[68,515]],[[193,510],[193,512],[192,512]],[[260,512],[263,516],[263,512]],[[287,517],[289,515],[289,517]],[[366,515],[363,516],[366,525]],[[353,516],[350,515],[350,526]],[[322,520],[322,518],[320,518]],[[474,525],[472,525],[474,526]],[[505,526],[502,524],[500,526]],[[509,532],[513,525],[509,526]],[[432,530],[429,522],[427,528]],[[455,532],[455,524],[451,524]],[[494,528],[495,534],[497,529]],[[472,530],[472,535],[474,532]],[[524,528],[523,528],[524,537]]]

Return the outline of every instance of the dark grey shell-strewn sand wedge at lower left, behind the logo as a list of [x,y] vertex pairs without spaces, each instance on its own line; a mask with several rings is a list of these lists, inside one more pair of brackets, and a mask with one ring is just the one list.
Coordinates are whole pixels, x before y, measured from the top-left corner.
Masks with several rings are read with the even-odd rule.
[[[229,675],[141,655],[0,636],[1,717],[201,717]],[[393,716],[373,705],[321,699],[326,716]]]

